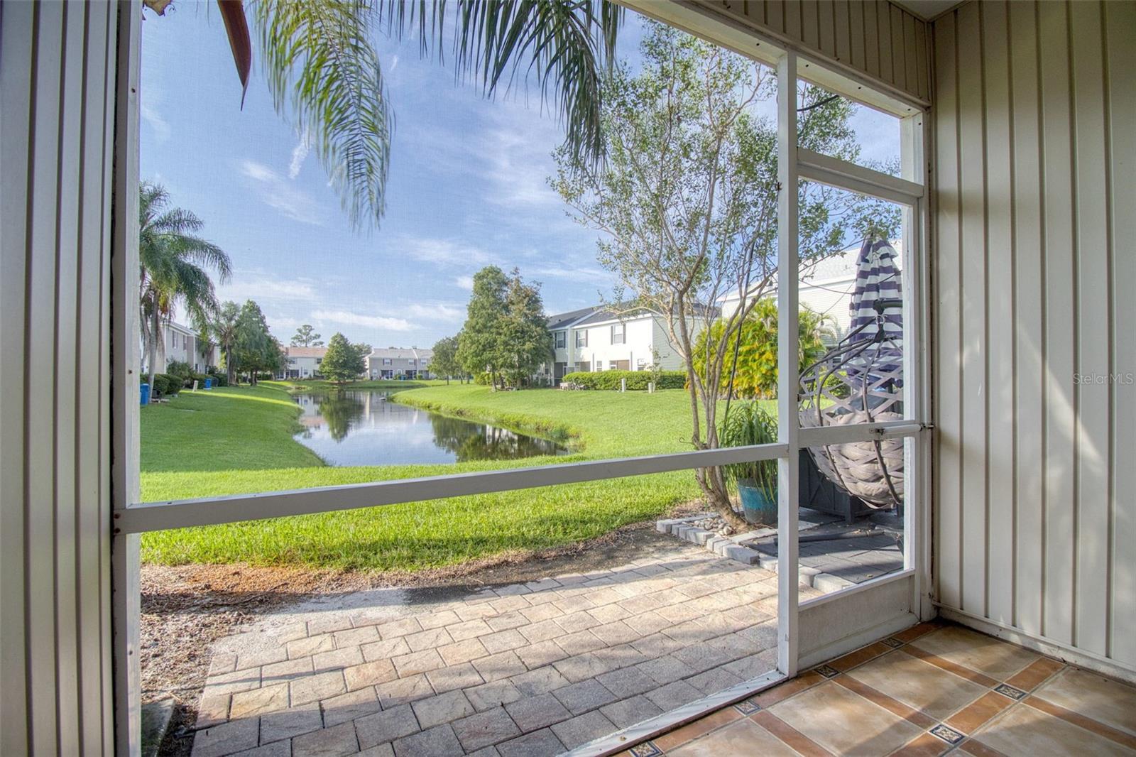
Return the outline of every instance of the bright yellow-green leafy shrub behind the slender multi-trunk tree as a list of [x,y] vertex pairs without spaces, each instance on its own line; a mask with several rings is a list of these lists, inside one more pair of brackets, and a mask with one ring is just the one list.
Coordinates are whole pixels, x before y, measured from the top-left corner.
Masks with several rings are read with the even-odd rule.
[[[797,372],[825,353],[824,338],[836,336],[832,323],[830,316],[801,308],[797,319]],[[771,297],[759,300],[728,339],[724,339],[725,327],[725,323],[718,319],[708,331],[699,333],[694,344],[695,368],[702,372],[707,365],[708,343],[725,342],[726,358],[718,381],[718,396],[746,399],[777,397],[777,300]],[[700,377],[705,381],[704,374]]]

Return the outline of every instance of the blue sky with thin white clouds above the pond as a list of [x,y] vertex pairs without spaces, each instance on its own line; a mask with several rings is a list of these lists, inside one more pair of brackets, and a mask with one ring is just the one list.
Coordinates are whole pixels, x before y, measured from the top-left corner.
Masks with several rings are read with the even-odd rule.
[[[315,153],[276,115],[256,49],[242,110],[216,6],[174,8],[142,25],[142,177],[204,221],[234,264],[218,294],[257,300],[285,343],[310,323],[325,340],[428,347],[460,328],[470,277],[490,264],[542,282],[549,313],[610,293],[595,232],[545,184],[562,134],[535,92],[485,100],[415,41],[377,38],[395,113],[387,208],[378,230],[356,234]],[[642,22],[628,15],[620,49],[634,56]],[[896,149],[880,118],[858,119],[866,157]]]

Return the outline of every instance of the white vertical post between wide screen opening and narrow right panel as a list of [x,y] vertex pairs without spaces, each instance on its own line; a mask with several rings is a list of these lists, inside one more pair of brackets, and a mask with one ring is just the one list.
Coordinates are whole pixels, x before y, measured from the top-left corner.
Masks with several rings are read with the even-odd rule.
[[797,166],[796,53],[777,61],[777,438],[788,446],[777,460],[777,668],[797,665]]

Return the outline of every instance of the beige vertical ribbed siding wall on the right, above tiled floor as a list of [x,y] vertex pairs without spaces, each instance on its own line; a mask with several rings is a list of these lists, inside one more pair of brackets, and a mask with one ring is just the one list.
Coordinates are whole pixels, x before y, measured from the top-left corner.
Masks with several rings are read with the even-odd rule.
[[1130,0],[934,25],[938,599],[1128,668],[1133,39]]

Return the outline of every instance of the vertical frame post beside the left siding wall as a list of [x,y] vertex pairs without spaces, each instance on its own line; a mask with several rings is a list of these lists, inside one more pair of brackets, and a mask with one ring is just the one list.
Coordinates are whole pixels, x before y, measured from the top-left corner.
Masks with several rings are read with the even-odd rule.
[[[110,497],[115,509],[137,502],[139,491],[139,70],[142,6],[118,9],[115,78],[114,225],[110,260]],[[106,338],[106,335],[105,335]],[[114,630],[115,754],[142,751],[139,625],[139,535],[110,524]]]

